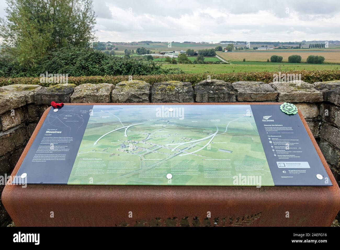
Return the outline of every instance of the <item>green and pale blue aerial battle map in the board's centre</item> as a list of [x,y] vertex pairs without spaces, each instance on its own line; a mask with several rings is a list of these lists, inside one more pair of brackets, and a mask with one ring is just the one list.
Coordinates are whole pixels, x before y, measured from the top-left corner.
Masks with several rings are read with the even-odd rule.
[[235,185],[240,175],[274,185],[250,105],[94,105],[68,184]]

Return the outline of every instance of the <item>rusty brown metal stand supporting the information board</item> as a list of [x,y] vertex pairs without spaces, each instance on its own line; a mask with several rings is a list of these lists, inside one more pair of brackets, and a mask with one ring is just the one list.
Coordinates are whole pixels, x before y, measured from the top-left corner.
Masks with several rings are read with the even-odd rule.
[[[105,104],[112,103],[101,105]],[[12,176],[17,173],[47,113],[48,110],[41,117]],[[7,183],[2,202],[17,226],[330,226],[340,209],[340,189],[300,111],[299,116],[333,186],[28,185],[22,188]]]

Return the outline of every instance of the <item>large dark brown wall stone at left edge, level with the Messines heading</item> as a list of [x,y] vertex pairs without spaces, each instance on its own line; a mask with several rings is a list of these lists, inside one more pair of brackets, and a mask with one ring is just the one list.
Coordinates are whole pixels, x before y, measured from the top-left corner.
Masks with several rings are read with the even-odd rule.
[[25,124],[9,129],[5,132],[0,132],[0,155],[14,151],[26,145],[28,140],[28,131]]

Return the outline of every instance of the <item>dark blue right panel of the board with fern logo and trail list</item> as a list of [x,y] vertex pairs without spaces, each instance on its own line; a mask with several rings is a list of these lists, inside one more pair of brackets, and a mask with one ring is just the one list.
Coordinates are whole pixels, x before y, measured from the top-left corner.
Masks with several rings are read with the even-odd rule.
[[332,185],[298,114],[287,115],[280,105],[251,109],[275,186]]

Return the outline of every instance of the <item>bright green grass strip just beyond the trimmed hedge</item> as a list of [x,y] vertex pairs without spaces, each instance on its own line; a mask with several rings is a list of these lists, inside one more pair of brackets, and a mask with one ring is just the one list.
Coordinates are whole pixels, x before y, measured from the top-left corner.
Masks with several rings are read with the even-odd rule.
[[340,65],[306,64],[306,63],[256,63],[237,62],[238,64],[164,64],[164,68],[180,68],[186,73],[231,73],[231,72],[261,72],[287,70],[322,70],[340,69]]

